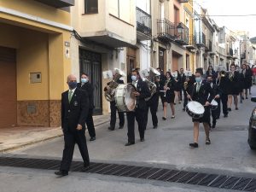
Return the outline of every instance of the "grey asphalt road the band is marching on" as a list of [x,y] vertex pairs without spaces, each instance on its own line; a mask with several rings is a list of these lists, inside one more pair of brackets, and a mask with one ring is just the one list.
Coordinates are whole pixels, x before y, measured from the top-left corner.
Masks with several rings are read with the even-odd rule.
[[[256,95],[255,88],[252,92]],[[235,110],[233,106],[228,118],[223,118],[222,114],[218,119],[217,127],[211,131],[212,144],[209,146],[205,144],[201,125],[200,146],[194,149],[189,148],[189,143],[193,142],[192,121],[187,113],[182,111],[182,104],[176,105],[175,119],[171,119],[171,108],[168,108],[169,117],[166,121],[161,119],[160,106],[158,129],[152,129],[149,117],[145,142],[139,142],[136,128],[136,144],[130,147],[125,147],[126,126],[122,130],[108,131],[108,124],[101,125],[96,130],[96,141],[88,142],[90,160],[256,177],[256,152],[247,145],[248,119],[254,106],[255,103],[247,99],[239,104],[239,110]],[[22,148],[8,155],[60,160],[62,149],[63,138],[61,137],[29,148]],[[81,160],[77,147],[74,160]],[[188,184],[152,182],[77,172],[71,172],[68,177],[56,179],[53,172],[9,167],[0,167],[0,179],[1,191],[2,189],[3,191],[224,191]],[[14,180],[17,185],[10,184]],[[36,190],[32,190],[36,185],[38,186]]]

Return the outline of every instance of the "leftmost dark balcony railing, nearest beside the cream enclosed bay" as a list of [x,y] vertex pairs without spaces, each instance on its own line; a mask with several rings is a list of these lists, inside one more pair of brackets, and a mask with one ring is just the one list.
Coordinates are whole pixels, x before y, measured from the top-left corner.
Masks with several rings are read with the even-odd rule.
[[152,34],[152,20],[151,15],[148,15],[142,9],[136,9],[137,14],[137,32],[142,32],[144,35],[151,37]]

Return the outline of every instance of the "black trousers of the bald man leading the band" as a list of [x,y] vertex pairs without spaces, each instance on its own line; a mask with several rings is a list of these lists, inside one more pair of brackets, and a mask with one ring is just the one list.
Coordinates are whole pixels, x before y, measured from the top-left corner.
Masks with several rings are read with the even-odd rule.
[[64,132],[64,150],[62,154],[62,160],[61,160],[61,171],[69,171],[72,159],[73,159],[73,149],[75,146],[75,143],[78,144],[80,154],[82,155],[82,158],[84,160],[84,166],[90,165],[89,160],[89,154],[88,149],[86,145],[86,139],[84,135],[85,130],[81,131],[65,131]]

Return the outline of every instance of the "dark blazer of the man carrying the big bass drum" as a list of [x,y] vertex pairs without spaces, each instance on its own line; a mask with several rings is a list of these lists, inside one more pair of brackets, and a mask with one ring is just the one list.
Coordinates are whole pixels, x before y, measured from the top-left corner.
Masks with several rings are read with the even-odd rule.
[[151,93],[148,89],[148,84],[143,81],[143,79],[138,79],[137,81],[137,92],[140,93],[140,96],[137,96],[137,108],[147,109],[147,102],[145,98],[151,96]]

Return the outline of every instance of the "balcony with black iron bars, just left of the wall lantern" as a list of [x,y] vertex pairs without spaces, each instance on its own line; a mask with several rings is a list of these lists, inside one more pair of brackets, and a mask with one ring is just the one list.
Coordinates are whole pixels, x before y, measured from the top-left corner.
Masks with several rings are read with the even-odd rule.
[[157,20],[157,34],[158,38],[162,41],[174,41],[175,40],[175,24],[170,20],[159,19]]

